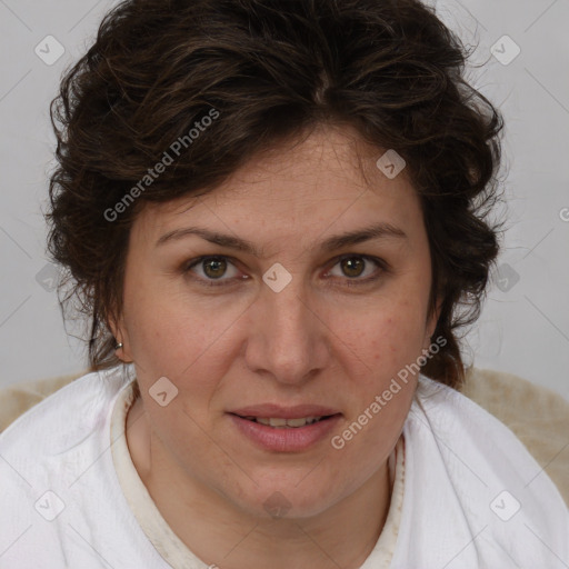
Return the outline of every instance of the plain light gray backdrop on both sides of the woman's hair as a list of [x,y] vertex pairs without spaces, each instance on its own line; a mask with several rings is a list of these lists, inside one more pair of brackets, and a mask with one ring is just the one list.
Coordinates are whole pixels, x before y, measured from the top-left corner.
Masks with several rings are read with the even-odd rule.
[[[44,253],[54,149],[48,106],[61,72],[116,3],[0,0],[0,386],[87,367],[74,338],[81,328],[63,328]],[[478,44],[471,61],[483,66],[469,77],[506,119],[508,231],[466,359],[569,399],[569,1],[447,0],[436,8],[467,44]],[[48,36],[64,48],[52,64],[34,51],[57,53]]]

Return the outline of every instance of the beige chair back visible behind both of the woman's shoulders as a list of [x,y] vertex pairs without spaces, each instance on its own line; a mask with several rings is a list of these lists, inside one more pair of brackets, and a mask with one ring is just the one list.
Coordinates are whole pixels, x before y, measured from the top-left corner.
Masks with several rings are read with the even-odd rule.
[[[43,379],[0,389],[0,431],[77,377]],[[469,370],[461,392],[516,433],[569,506],[569,402],[520,377],[478,368]]]

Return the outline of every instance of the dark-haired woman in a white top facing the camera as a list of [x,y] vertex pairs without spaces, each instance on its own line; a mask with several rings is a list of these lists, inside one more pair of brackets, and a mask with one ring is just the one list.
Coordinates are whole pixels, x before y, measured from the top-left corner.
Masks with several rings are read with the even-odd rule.
[[0,438],[0,567],[567,566],[552,481],[456,390],[502,128],[465,57],[415,0],[106,17],[48,216],[93,372]]

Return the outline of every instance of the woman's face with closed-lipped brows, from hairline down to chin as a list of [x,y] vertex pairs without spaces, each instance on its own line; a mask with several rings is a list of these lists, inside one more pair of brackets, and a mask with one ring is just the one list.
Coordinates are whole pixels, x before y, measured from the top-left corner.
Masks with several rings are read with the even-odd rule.
[[[136,219],[114,331],[163,476],[249,515],[308,517],[385,472],[417,378],[382,393],[429,347],[436,316],[419,199],[405,170],[378,169],[382,153],[351,130],[318,130]],[[370,239],[331,240],[379,224]],[[287,413],[335,417],[301,428],[238,417]]]

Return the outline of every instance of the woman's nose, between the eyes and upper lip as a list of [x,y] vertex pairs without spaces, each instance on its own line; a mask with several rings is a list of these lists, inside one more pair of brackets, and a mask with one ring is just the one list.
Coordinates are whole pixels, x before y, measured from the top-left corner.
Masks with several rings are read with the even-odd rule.
[[302,383],[328,365],[330,330],[300,279],[280,292],[263,284],[249,312],[246,362],[281,383]]

